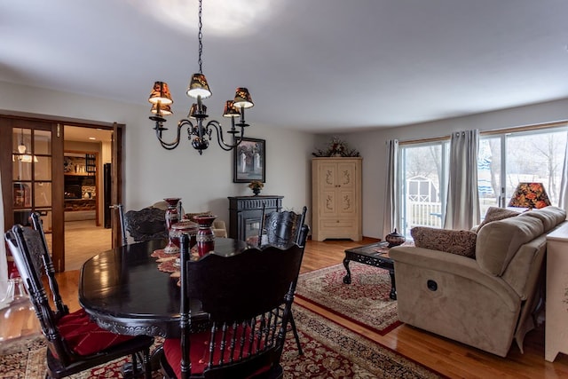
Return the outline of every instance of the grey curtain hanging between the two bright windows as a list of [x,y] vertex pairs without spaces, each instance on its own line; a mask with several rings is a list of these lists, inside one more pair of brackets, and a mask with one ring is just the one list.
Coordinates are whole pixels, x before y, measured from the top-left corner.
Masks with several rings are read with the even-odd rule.
[[444,229],[468,230],[479,224],[478,146],[479,130],[452,134]]

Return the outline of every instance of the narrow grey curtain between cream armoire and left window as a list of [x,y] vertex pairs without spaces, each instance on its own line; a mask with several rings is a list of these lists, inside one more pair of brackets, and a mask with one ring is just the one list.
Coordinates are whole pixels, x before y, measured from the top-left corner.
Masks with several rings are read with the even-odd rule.
[[386,188],[384,192],[383,212],[383,238],[397,228],[398,223],[398,139],[387,141],[387,170],[385,176]]

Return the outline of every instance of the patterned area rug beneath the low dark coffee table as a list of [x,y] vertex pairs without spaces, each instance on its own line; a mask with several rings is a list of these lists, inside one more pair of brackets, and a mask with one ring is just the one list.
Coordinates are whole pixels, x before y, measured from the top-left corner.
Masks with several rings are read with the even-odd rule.
[[389,271],[358,262],[351,262],[349,269],[351,284],[343,283],[343,264],[301,274],[296,296],[381,335],[397,328],[400,321],[397,301],[389,297]]

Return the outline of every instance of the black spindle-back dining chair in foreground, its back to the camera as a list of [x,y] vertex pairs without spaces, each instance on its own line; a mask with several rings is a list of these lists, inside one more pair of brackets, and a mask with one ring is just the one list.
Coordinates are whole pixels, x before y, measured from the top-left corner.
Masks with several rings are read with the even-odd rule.
[[[189,261],[181,241],[181,338],[163,344],[169,378],[280,378],[280,357],[302,248],[246,249]],[[193,331],[189,304],[200,301],[210,328]]]

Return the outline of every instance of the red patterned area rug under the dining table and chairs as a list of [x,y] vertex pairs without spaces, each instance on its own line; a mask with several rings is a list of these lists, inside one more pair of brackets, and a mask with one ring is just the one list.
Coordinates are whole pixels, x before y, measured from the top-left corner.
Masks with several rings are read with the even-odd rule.
[[[292,378],[439,378],[427,367],[396,351],[351,332],[302,306],[294,305],[294,319],[304,355],[298,355],[292,333],[282,355],[284,377]],[[45,369],[45,343],[42,338],[15,346],[12,353],[0,356],[0,378],[42,378]],[[126,359],[99,366],[74,379],[119,378]],[[159,371],[154,378],[161,378]]]

